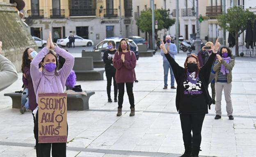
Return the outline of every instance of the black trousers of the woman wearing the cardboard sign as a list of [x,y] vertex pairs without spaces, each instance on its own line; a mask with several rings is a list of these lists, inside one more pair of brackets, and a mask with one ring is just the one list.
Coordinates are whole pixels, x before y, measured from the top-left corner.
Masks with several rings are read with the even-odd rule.
[[38,143],[38,111],[34,122],[37,157],[50,157],[51,148],[52,157],[66,157],[66,143]]

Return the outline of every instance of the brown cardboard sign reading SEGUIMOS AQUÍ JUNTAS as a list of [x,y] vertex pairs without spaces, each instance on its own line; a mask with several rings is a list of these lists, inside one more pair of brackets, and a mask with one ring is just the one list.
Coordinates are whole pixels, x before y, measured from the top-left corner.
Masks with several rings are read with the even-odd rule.
[[67,94],[38,94],[38,143],[67,142]]

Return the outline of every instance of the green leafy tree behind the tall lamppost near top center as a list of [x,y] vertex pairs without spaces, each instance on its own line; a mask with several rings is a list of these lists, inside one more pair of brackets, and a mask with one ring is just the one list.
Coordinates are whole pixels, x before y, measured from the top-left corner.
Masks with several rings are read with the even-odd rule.
[[[169,29],[172,19],[169,18],[169,11],[163,9],[155,10],[155,20],[158,20],[158,30]],[[136,22],[142,32],[149,33],[149,47],[152,49],[152,11],[147,9],[142,11]],[[169,27],[168,27],[169,26]]]

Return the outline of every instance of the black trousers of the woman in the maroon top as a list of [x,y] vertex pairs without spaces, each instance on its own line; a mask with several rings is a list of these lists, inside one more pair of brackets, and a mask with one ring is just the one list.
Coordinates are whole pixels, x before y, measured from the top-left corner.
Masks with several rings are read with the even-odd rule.
[[123,95],[124,95],[124,84],[126,84],[126,91],[128,94],[130,108],[134,108],[134,96],[133,96],[133,83],[118,83],[118,108],[123,107]]

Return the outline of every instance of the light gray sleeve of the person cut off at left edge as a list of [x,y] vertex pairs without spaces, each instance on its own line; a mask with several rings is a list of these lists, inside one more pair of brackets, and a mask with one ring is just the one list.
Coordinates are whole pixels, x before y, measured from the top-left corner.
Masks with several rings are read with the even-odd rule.
[[18,80],[14,64],[0,54],[0,91],[4,90]]

